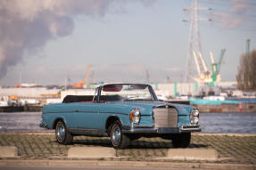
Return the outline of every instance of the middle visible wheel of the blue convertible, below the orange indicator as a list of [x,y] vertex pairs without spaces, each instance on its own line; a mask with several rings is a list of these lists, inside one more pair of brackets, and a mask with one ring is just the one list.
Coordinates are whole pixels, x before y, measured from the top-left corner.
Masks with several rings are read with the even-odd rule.
[[114,149],[125,149],[128,147],[130,139],[121,131],[120,121],[115,121],[111,125],[111,145]]

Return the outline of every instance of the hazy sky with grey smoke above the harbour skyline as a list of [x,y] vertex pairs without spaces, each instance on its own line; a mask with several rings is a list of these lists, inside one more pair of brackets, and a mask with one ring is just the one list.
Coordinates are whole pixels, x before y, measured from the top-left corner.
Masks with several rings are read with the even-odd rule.
[[[65,77],[78,83],[89,64],[89,82],[145,83],[146,70],[151,83],[185,79],[190,0],[66,0],[66,8],[58,1],[3,2],[0,85],[64,85]],[[203,57],[210,67],[210,51],[218,61],[226,48],[220,74],[235,81],[247,38],[256,49],[256,2],[199,0],[199,6],[211,8],[199,13]]]

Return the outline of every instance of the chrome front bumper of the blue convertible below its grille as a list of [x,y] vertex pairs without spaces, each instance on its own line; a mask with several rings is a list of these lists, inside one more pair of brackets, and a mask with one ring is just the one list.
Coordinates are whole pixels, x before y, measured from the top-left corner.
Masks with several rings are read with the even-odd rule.
[[201,132],[200,125],[181,125],[180,127],[125,127],[124,134],[179,134]]

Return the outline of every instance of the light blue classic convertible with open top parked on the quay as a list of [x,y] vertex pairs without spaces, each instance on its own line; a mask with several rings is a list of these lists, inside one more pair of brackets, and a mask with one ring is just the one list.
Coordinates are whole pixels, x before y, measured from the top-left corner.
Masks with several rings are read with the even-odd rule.
[[57,142],[73,136],[110,136],[115,149],[140,137],[162,137],[186,148],[192,132],[200,132],[199,111],[192,106],[159,101],[151,85],[101,85],[92,96],[66,96],[45,105],[40,127],[55,129]]

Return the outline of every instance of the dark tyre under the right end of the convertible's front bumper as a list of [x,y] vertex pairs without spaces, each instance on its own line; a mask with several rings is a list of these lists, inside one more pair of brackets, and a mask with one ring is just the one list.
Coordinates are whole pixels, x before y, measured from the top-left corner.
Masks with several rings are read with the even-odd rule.
[[186,148],[191,140],[191,133],[173,134],[171,141],[174,148]]

